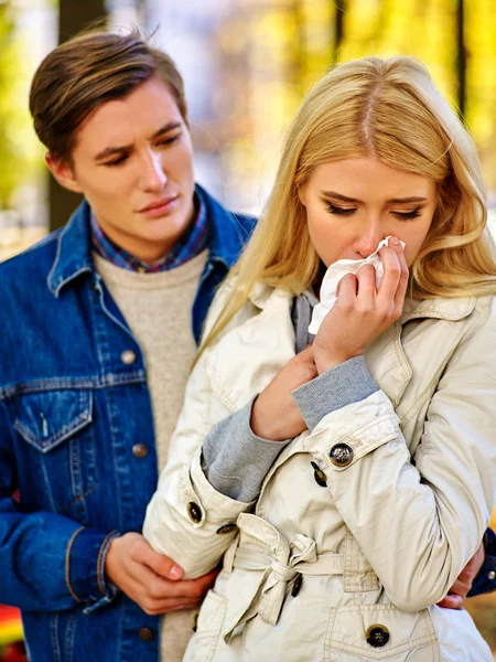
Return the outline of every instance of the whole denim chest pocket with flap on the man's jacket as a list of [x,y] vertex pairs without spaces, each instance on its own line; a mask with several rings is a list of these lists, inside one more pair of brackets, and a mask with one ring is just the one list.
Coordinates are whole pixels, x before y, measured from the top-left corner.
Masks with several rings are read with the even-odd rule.
[[[86,496],[96,488],[91,391],[61,389],[21,396],[13,427],[28,442],[26,501],[86,522]],[[21,467],[22,472],[22,467]],[[21,496],[22,476],[20,477]],[[33,494],[34,492],[34,494]]]

